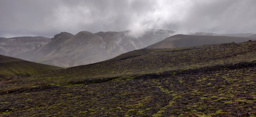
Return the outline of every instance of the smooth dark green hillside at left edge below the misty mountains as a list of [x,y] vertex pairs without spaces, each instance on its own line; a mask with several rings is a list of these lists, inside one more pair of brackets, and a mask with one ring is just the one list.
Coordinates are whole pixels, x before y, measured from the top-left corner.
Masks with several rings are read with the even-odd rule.
[[35,74],[44,74],[58,69],[63,68],[0,55],[0,80],[10,76],[27,77]]

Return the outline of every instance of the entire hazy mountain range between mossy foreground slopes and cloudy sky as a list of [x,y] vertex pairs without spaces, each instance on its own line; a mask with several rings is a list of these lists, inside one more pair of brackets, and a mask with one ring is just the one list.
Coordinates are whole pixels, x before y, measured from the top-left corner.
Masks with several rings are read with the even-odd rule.
[[[67,68],[108,60],[141,48],[176,48],[228,42],[238,43],[254,40],[255,36],[255,33],[216,34],[205,32],[174,35],[177,33],[172,30],[147,29],[98,33],[82,31],[76,35],[61,32],[51,39],[45,37],[2,38],[0,54]],[[247,37],[251,39],[247,39]]]

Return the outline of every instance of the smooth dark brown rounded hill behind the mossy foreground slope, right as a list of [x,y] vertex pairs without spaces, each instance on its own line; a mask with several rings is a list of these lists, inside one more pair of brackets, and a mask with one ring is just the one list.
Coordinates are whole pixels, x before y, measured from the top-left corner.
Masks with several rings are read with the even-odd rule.
[[[146,48],[176,48],[176,47],[192,47],[208,44],[219,43],[240,43],[248,40],[253,40],[245,37],[231,36],[208,36],[208,35],[183,35],[177,34],[168,37],[162,41],[152,44]],[[256,40],[256,39],[255,39]]]

